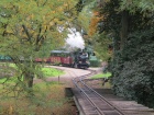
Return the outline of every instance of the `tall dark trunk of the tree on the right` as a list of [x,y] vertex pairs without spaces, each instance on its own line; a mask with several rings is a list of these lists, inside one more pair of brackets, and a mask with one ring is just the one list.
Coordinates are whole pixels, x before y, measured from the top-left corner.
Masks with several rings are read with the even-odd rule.
[[122,50],[128,39],[128,28],[129,28],[129,12],[128,11],[122,12],[121,25],[122,27],[121,27],[120,49]]

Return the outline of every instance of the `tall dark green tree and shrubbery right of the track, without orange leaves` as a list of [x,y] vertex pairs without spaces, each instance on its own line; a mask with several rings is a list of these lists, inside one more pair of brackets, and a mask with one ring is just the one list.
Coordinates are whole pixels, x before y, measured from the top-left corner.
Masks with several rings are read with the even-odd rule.
[[150,61],[153,61],[154,2],[110,0],[102,4],[100,33],[113,38],[112,89],[120,96],[152,107],[154,65]]

